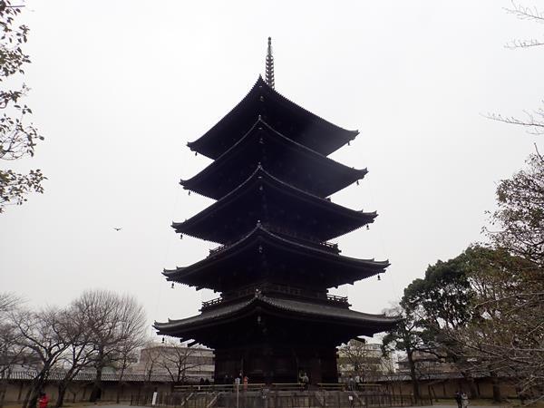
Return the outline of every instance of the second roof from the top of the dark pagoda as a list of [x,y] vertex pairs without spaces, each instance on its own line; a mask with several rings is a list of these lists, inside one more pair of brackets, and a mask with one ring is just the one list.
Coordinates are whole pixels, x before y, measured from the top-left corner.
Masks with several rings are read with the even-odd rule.
[[[256,149],[257,154],[253,154]],[[270,157],[271,154],[274,156]],[[244,180],[248,177],[248,163],[254,162],[257,165],[261,160],[263,168],[268,172],[272,174],[277,171],[289,172],[290,178],[293,179],[289,181],[296,187],[320,197],[345,188],[355,180],[364,178],[368,172],[366,169],[347,167],[292,141],[259,117],[251,129],[217,160],[189,180],[181,180],[180,184],[184,189],[190,189],[211,199],[220,199],[230,189],[238,187],[243,181],[239,180],[240,177],[244,177]],[[304,178],[303,175],[308,171],[312,174],[309,178]],[[300,178],[298,183],[296,176]]]

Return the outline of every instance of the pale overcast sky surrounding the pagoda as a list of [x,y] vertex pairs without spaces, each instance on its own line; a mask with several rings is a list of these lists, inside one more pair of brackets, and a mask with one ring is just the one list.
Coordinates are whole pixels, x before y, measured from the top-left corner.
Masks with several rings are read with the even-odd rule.
[[544,137],[481,115],[520,114],[544,96],[544,49],[504,47],[542,38],[543,26],[505,13],[508,1],[26,5],[26,102],[46,139],[15,166],[49,180],[0,215],[0,290],[32,306],[109,288],[136,296],[151,323],[217,296],[172,290],[160,275],[214,248],[170,228],[211,202],[178,184],[209,163],[185,145],[264,73],[269,35],[277,91],[361,132],[332,157],[370,172],[333,200],[379,217],[337,242],[392,266],[380,282],[337,290],[357,310],[380,312],[429,264],[483,239],[497,182],[535,141],[544,151]]

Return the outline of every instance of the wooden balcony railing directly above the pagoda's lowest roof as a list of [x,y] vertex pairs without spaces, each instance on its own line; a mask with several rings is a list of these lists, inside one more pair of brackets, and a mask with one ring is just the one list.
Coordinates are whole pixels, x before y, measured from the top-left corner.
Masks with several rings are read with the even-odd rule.
[[329,295],[327,293],[322,293],[322,292],[313,292],[310,290],[302,289],[300,287],[287,287],[284,285],[267,283],[267,284],[252,286],[252,287],[246,287],[244,289],[237,290],[236,292],[231,292],[228,294],[228,296],[219,296],[219,297],[216,297],[215,299],[202,302],[202,308],[200,310],[208,309],[210,307],[219,306],[219,305],[226,305],[242,297],[248,297],[248,296],[254,295],[257,290],[263,294],[277,293],[282,295],[296,296],[296,297],[305,298],[305,299],[319,300],[321,302],[332,304],[335,306],[344,306],[344,307],[350,306],[349,303],[347,302],[347,296],[335,296],[335,295]]

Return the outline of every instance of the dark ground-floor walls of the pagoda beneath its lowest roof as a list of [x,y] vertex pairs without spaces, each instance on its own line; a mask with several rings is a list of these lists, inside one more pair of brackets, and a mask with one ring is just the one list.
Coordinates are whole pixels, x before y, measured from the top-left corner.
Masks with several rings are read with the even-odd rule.
[[338,382],[336,347],[255,345],[215,350],[215,383],[233,384],[241,374],[250,384],[298,383],[306,373],[310,384]]

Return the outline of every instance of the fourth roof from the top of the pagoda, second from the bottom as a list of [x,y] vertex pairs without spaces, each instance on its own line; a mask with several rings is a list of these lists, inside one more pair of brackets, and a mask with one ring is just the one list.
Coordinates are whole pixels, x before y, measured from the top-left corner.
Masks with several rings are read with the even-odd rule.
[[258,224],[238,242],[211,250],[209,257],[189,267],[165,270],[163,274],[169,281],[226,292],[266,279],[271,271],[291,286],[315,284],[317,288],[353,284],[383,274],[389,266],[387,261],[340,256],[330,245],[319,247],[281,237]]

